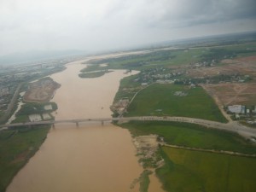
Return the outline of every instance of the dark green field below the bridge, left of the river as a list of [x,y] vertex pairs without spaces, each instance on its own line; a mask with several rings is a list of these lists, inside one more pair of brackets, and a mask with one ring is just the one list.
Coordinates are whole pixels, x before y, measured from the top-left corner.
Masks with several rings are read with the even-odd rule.
[[48,131],[48,126],[0,131],[0,192],[5,191],[15,174],[38,151]]

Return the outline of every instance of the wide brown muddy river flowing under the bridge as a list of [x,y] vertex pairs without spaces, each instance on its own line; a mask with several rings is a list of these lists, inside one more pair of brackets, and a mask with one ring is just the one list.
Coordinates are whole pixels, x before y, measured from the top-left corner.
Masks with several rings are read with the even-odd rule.
[[[124,71],[101,78],[80,79],[84,68],[76,61],[51,76],[61,88],[53,102],[55,119],[108,118],[109,106]],[[129,131],[111,124],[58,124],[44,144],[15,176],[8,192],[125,192],[143,172]],[[155,186],[154,184],[152,186]]]

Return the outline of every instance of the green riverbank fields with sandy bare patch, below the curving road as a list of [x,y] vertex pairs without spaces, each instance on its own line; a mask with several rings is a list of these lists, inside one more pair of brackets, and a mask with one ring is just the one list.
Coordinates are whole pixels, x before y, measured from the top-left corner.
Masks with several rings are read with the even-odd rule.
[[[256,148],[237,134],[180,122],[131,121],[119,126],[131,131],[140,162],[145,168],[156,168],[155,173],[167,191],[213,191],[218,190],[213,187],[218,186],[217,183],[221,183],[219,190],[229,183],[225,191],[255,189],[256,174],[250,167],[256,163]],[[205,163],[209,160],[211,166]],[[235,172],[238,165],[247,171],[227,177],[229,169]],[[211,181],[216,184],[212,185]],[[244,182],[248,182],[250,189],[242,187]],[[189,186],[188,190],[186,186]]]

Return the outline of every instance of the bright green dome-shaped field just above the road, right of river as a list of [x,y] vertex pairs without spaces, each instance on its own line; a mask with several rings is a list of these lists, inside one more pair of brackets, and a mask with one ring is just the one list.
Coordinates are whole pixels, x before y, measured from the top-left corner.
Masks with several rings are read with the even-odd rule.
[[[176,96],[182,91],[186,96]],[[211,96],[201,87],[189,89],[178,84],[152,84],[135,97],[127,116],[183,116],[226,122]]]

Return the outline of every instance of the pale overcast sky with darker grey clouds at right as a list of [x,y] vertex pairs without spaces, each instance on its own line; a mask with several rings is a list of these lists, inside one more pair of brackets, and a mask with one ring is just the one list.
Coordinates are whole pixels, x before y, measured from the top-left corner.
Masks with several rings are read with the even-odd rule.
[[0,0],[0,55],[256,31],[255,0]]

